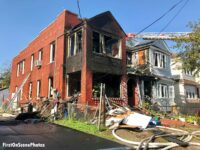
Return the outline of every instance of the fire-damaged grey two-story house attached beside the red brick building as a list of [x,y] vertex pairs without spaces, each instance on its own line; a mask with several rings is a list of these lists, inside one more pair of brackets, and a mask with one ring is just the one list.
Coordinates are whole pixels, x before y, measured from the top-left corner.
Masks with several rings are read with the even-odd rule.
[[168,46],[163,40],[141,41],[134,46],[127,41],[128,103],[140,105],[150,97],[162,111],[174,105],[174,81],[170,70]]

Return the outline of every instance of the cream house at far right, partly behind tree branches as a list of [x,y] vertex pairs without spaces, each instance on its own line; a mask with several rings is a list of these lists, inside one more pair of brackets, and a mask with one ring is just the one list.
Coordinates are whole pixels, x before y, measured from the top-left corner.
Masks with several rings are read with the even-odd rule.
[[175,102],[181,113],[194,114],[200,110],[200,74],[194,76],[184,70],[181,60],[174,54],[171,71],[175,82]]

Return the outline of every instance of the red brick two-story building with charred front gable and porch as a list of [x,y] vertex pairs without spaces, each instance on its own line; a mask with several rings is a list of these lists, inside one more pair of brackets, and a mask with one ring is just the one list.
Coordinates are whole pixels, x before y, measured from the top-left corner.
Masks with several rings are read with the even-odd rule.
[[100,83],[113,100],[127,103],[126,34],[108,11],[80,19],[63,11],[12,62],[10,93],[18,101],[51,97],[56,89],[62,99],[80,92],[80,103],[94,105]]

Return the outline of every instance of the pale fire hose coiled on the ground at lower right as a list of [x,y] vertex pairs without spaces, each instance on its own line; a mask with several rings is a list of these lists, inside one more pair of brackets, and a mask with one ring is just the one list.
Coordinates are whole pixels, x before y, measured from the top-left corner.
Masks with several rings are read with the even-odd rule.
[[[169,133],[169,134],[164,134],[164,135],[154,135],[154,136],[151,136],[149,138],[142,140],[141,142],[130,141],[130,140],[126,140],[126,139],[120,137],[119,135],[116,134],[116,131],[118,129],[113,129],[112,134],[116,139],[118,139],[122,142],[125,142],[127,144],[133,145],[133,148],[135,148],[137,150],[147,149],[147,148],[162,148],[162,150],[168,150],[168,149],[179,146],[179,144],[173,143],[173,142],[165,142],[165,143],[150,142],[153,138],[167,137],[167,136],[179,136],[179,137],[181,137],[180,140],[183,141],[183,142],[187,142],[188,145],[200,146],[200,143],[190,142],[193,136],[194,137],[200,136],[200,131],[194,131],[194,132],[189,133],[189,132],[181,130],[181,129],[164,127],[164,126],[156,126],[156,128],[168,129],[168,130],[171,130],[171,131],[174,131],[174,132],[178,131],[180,133],[179,134]],[[151,129],[146,129],[146,130],[151,130]]]

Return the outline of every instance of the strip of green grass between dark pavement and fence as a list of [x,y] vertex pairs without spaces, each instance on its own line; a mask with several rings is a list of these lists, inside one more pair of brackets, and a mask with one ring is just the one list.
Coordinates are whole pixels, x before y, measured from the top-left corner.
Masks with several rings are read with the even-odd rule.
[[84,133],[95,135],[101,138],[115,140],[110,130],[106,128],[101,128],[101,130],[99,131],[97,125],[91,125],[80,120],[63,119],[63,120],[56,120],[54,123],[65,126],[65,127],[69,127],[69,128],[72,128]]

